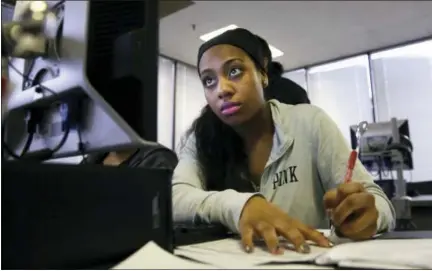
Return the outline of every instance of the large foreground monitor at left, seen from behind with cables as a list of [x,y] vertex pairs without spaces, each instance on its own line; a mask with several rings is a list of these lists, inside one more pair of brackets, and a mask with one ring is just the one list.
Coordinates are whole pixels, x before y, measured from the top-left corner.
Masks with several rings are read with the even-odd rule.
[[9,156],[47,160],[156,141],[158,1],[50,8],[57,23],[51,53],[10,62]]

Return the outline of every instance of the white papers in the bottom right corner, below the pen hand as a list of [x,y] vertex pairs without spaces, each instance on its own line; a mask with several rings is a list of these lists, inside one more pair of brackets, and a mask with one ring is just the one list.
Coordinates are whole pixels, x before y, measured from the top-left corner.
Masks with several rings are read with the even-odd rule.
[[[316,260],[317,264],[353,264],[356,268],[377,266],[432,269],[432,239],[371,240],[335,246]],[[348,266],[346,266],[348,267]]]

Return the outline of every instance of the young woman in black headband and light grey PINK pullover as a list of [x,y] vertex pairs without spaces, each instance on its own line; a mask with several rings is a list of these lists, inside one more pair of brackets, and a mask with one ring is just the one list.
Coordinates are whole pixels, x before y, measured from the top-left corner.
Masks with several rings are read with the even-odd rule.
[[280,253],[279,236],[307,253],[306,240],[329,241],[314,228],[332,223],[360,240],[394,224],[394,210],[357,162],[345,183],[350,148],[336,124],[312,105],[265,102],[260,42],[236,29],[204,43],[198,71],[208,105],[178,150],[174,220],[222,223],[246,251],[261,237]]

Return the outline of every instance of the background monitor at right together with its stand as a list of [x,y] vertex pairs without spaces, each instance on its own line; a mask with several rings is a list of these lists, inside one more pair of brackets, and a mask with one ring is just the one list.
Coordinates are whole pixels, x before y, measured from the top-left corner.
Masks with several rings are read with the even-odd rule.
[[[351,145],[357,147],[354,131],[351,126]],[[412,170],[413,145],[409,138],[408,120],[392,118],[389,122],[370,123],[368,130],[359,142],[359,159],[369,171],[378,171],[379,179],[384,170],[396,171],[395,193],[391,200],[396,211],[396,229],[410,230],[415,228],[411,221],[410,197],[406,192],[404,170]]]

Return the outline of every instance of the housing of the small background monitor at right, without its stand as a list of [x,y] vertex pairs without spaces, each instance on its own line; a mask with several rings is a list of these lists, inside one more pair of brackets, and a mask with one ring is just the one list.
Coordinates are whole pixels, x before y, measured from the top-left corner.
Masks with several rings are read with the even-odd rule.
[[[351,147],[357,147],[357,125],[350,127]],[[369,123],[359,142],[359,157],[369,170],[391,170],[394,160],[392,151],[402,154],[404,169],[413,169],[409,122],[407,119],[392,119],[386,122]]]

